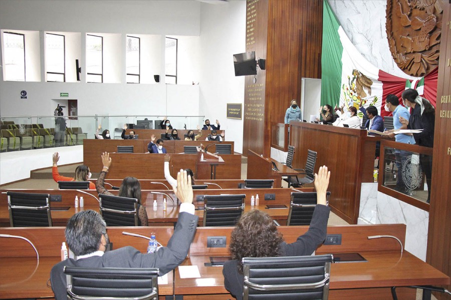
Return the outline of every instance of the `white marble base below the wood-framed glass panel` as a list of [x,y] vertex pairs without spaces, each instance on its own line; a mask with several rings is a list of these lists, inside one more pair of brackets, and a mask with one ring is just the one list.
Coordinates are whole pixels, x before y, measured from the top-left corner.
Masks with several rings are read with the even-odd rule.
[[429,213],[377,191],[377,182],[362,183],[359,224],[406,224],[405,249],[425,261]]

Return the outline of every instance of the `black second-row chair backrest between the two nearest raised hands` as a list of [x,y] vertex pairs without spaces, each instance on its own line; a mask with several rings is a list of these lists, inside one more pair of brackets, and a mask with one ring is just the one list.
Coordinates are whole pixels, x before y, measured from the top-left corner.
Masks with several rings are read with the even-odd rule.
[[246,194],[204,195],[204,226],[235,226],[243,214]]

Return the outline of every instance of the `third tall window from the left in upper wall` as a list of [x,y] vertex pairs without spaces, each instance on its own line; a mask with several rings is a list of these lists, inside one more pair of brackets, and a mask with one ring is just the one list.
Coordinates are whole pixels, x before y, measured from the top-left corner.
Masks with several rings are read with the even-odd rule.
[[86,34],[86,82],[103,82],[103,37]]

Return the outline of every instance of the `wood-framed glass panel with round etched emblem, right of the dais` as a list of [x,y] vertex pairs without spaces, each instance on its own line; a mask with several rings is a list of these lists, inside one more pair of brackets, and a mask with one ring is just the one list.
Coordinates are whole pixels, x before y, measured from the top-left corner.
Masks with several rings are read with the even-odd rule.
[[381,140],[378,190],[429,210],[432,148]]

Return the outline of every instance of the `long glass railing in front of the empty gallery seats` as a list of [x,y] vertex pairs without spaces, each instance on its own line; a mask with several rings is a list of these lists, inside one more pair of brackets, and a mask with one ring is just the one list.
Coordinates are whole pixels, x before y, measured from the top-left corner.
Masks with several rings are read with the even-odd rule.
[[[0,151],[30,150],[43,147],[83,144],[95,138],[96,129],[108,129],[111,138],[121,138],[122,128],[158,129],[162,116],[157,115],[79,115],[79,116],[9,116],[0,117]],[[168,115],[173,128],[202,127],[203,115]]]

